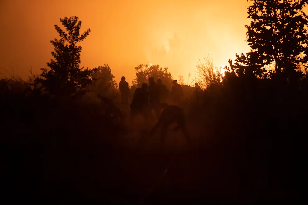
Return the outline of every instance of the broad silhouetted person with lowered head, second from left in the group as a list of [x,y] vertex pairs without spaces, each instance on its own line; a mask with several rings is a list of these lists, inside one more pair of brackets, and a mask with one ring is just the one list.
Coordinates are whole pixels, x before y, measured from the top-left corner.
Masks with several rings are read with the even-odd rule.
[[141,87],[136,89],[134,93],[134,98],[132,100],[132,103],[130,104],[130,125],[132,125],[134,118],[138,114],[141,114],[143,116],[146,123],[149,121],[149,118],[152,114],[152,108],[149,105],[148,99],[149,92],[147,91],[147,83],[143,83]]

